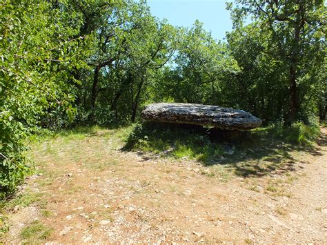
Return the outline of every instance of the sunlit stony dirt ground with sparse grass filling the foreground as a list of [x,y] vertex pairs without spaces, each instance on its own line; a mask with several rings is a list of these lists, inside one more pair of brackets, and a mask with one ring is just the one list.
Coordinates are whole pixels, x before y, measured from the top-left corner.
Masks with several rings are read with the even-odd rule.
[[2,242],[327,243],[326,128],[311,150],[244,155],[235,166],[277,164],[244,176],[224,162],[123,151],[121,134],[32,144],[36,173],[3,208]]

